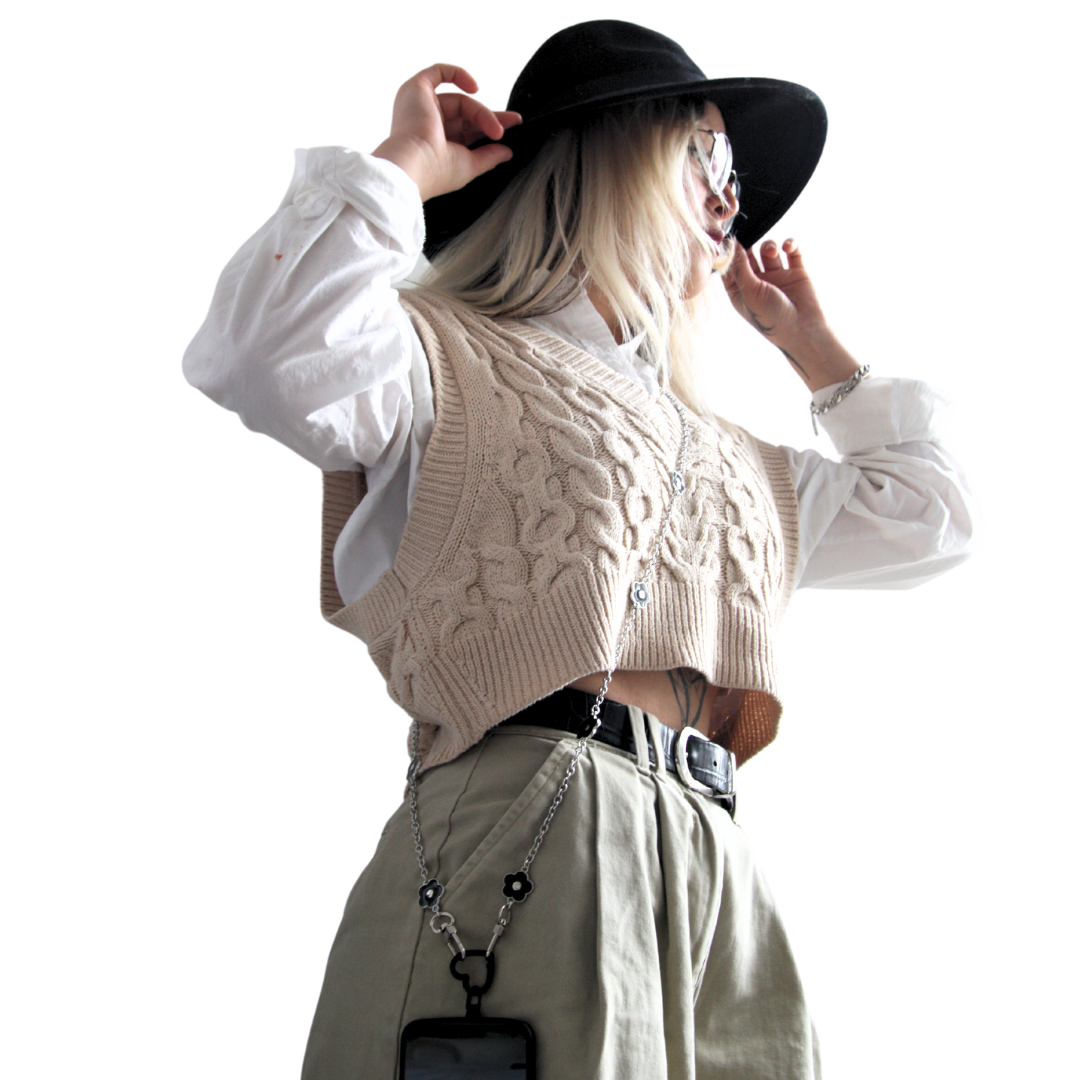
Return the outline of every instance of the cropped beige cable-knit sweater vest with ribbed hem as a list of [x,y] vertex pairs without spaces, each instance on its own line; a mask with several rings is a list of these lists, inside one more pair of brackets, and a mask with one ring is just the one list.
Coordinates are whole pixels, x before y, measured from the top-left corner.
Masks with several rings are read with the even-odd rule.
[[[611,663],[680,427],[665,397],[525,322],[420,291],[402,303],[431,364],[435,427],[393,567],[343,607],[324,572],[323,612],[367,644],[429,768]],[[750,691],[720,735],[745,761],[780,717],[772,638],[794,579],[795,491],[774,447],[688,422],[686,494],[619,666],[692,667]],[[362,488],[343,473],[325,490],[333,539]]]

